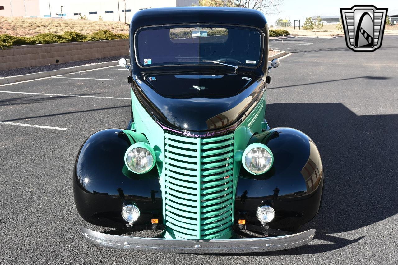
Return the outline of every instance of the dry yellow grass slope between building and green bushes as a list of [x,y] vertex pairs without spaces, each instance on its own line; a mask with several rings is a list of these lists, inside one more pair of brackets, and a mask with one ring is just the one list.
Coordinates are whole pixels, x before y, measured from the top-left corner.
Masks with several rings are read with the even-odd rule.
[[129,25],[123,22],[0,17],[0,34],[18,37],[31,37],[40,33],[63,34],[65,31],[90,34],[100,29],[108,29],[114,33],[129,33]]

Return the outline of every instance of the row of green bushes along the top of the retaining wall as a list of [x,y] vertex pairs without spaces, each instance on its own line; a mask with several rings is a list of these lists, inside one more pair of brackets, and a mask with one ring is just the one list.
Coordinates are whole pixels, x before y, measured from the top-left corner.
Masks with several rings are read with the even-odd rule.
[[16,37],[8,34],[0,35],[0,48],[13,45],[33,45],[49,43],[67,43],[76,41],[102,41],[111,39],[129,39],[129,34],[113,33],[109,30],[99,30],[92,34],[82,34],[75,31],[66,31],[62,35],[54,33],[42,33],[33,37]]

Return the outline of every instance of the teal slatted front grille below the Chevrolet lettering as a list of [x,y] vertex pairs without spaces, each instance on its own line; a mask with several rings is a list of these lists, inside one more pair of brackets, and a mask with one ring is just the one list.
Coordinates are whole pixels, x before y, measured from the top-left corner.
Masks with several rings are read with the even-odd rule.
[[188,138],[165,133],[165,224],[177,238],[231,232],[234,134]]

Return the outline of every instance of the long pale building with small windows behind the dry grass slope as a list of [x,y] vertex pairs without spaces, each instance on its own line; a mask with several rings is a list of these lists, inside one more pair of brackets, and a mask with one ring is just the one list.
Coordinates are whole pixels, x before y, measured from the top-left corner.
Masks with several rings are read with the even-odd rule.
[[199,0],[0,0],[0,16],[127,21],[145,8],[197,5]]

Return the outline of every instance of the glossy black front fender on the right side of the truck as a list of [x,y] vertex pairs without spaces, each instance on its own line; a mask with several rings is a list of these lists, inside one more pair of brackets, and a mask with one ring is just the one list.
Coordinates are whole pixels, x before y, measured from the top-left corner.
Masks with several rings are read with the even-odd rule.
[[324,174],[318,148],[306,134],[292,128],[275,128],[255,134],[248,145],[262,143],[273,153],[272,167],[254,175],[241,167],[235,198],[235,215],[257,223],[257,208],[269,205],[273,228],[299,226],[316,216],[322,199]]

